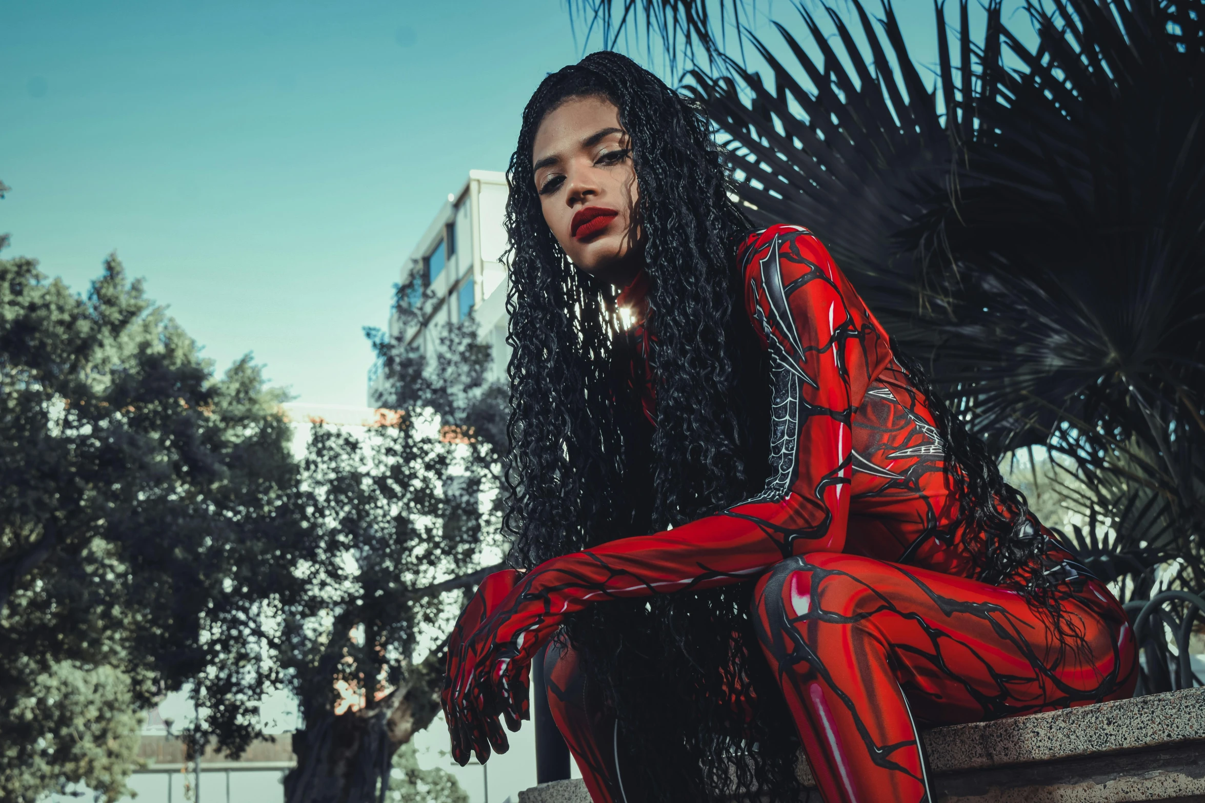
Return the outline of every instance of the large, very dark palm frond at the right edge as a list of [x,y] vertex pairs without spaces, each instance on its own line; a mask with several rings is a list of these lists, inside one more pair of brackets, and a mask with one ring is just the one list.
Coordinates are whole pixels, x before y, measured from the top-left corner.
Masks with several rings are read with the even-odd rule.
[[1039,46],[1003,31],[1023,67],[984,60],[991,136],[917,230],[950,288],[939,373],[999,449],[1154,494],[1200,584],[1205,2],[1029,12]]

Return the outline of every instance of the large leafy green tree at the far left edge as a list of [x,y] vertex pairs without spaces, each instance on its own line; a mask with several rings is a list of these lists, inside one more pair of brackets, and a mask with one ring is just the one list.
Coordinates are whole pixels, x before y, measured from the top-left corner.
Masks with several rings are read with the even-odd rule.
[[134,712],[194,679],[239,750],[304,557],[280,394],[216,378],[116,256],[87,297],[0,260],[0,797],[116,799]]

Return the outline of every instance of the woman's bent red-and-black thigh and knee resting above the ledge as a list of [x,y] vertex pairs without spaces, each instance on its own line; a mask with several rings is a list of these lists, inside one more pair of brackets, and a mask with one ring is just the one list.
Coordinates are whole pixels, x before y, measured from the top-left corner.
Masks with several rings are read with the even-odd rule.
[[1097,580],[1059,594],[1056,612],[976,580],[821,553],[780,563],[754,598],[763,645],[786,650],[782,660],[840,690],[869,681],[868,656],[881,654],[912,714],[930,724],[1133,692],[1133,638]]

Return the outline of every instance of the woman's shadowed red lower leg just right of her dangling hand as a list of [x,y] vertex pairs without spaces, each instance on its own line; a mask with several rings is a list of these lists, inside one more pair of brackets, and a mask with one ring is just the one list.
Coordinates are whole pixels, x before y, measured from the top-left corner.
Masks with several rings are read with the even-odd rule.
[[581,656],[569,646],[552,643],[545,654],[548,708],[565,737],[594,803],[625,803],[616,767],[615,714],[598,689],[590,687]]

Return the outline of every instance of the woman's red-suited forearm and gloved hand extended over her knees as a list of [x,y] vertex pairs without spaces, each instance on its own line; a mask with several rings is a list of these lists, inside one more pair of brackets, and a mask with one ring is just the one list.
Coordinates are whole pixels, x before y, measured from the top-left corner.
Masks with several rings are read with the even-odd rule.
[[[462,766],[507,749],[498,718],[517,731],[528,719],[531,659],[565,616],[606,600],[690,591],[756,577],[790,554],[789,542],[750,515],[748,504],[672,531],[621,538],[486,578],[452,632],[441,695],[452,756]],[[736,513],[736,510],[742,510]],[[809,541],[809,544],[827,543]]]

